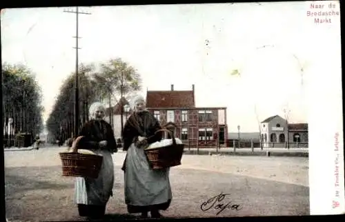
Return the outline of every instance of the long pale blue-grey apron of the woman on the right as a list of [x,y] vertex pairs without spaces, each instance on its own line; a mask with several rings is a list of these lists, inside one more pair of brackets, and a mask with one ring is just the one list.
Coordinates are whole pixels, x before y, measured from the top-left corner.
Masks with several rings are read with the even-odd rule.
[[132,143],[127,151],[125,171],[126,204],[147,206],[172,199],[169,168],[152,170],[141,148]]

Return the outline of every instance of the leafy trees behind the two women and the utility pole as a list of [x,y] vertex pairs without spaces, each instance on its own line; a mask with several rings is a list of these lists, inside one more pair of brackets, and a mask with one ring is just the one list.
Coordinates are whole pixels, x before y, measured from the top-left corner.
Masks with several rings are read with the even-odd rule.
[[[79,65],[79,129],[89,119],[89,107],[95,101],[108,104],[110,124],[112,106],[121,98],[128,98],[141,90],[141,77],[137,70],[122,59]],[[115,102],[115,103],[113,103]],[[119,103],[119,105],[124,105]],[[121,114],[124,108],[121,107]],[[50,138],[65,141],[73,137],[75,125],[75,72],[63,82],[55,105],[46,122]],[[122,121],[122,118],[121,118]],[[121,122],[123,128],[124,123]]]

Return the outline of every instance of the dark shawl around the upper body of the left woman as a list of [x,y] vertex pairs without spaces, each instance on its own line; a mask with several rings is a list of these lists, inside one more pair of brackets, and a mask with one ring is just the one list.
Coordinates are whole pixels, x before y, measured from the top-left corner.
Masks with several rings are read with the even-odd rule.
[[100,141],[107,141],[108,144],[105,150],[110,152],[117,152],[117,144],[112,131],[111,125],[103,120],[92,119],[83,125],[79,136],[85,137],[80,141],[82,149],[98,150]]

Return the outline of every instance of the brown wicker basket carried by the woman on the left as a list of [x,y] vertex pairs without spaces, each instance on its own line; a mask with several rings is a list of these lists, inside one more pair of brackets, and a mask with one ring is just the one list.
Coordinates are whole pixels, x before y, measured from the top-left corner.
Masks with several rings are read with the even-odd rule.
[[72,143],[72,152],[60,152],[62,163],[62,176],[81,176],[97,178],[103,157],[92,154],[80,154],[77,152],[78,143],[83,137],[77,137]]

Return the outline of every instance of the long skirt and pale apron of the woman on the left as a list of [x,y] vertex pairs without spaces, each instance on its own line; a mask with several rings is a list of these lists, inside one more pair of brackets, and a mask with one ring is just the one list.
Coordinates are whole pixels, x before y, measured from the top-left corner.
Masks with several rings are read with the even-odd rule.
[[77,204],[106,205],[114,186],[114,164],[108,150],[93,150],[103,156],[97,179],[77,177],[75,179],[75,201]]

